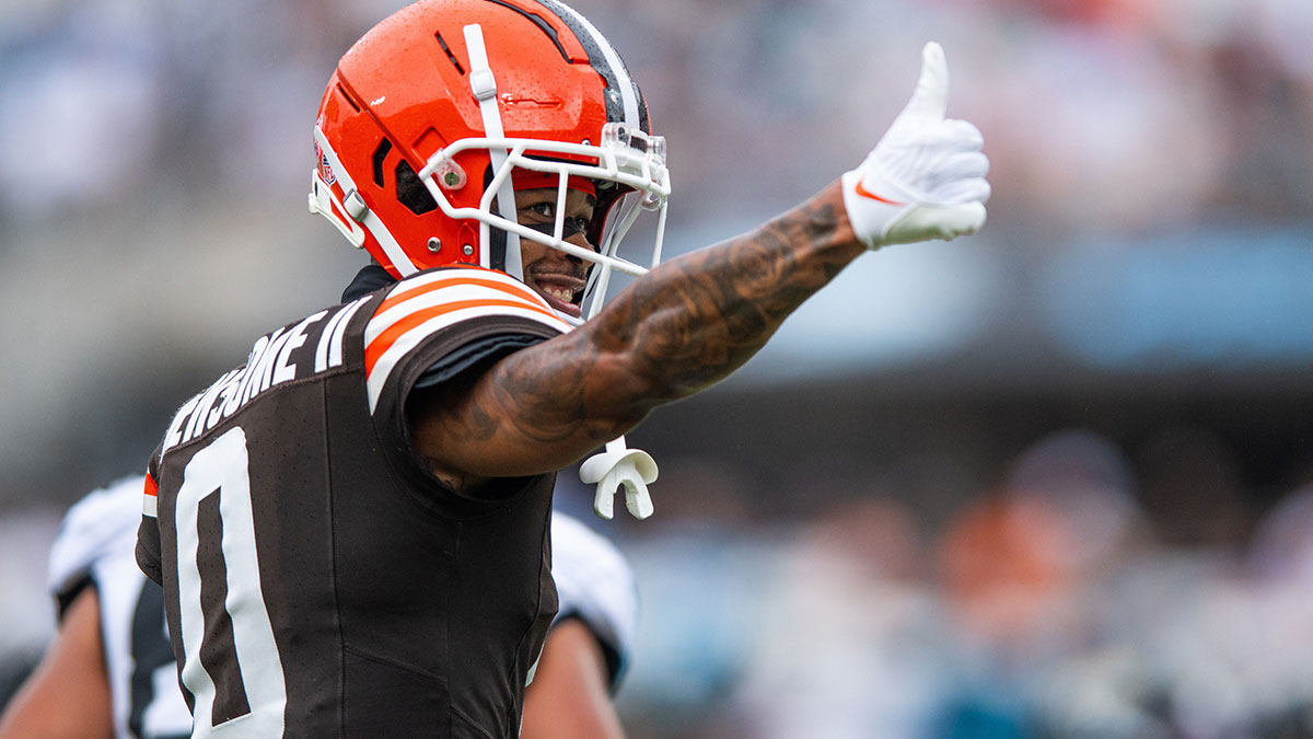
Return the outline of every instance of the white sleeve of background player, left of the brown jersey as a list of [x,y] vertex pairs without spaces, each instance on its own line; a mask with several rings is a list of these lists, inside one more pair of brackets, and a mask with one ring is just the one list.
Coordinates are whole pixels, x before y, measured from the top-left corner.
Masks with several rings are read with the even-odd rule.
[[84,586],[105,558],[130,550],[137,538],[142,475],[131,475],[92,490],[68,509],[50,547],[47,588],[59,614]]

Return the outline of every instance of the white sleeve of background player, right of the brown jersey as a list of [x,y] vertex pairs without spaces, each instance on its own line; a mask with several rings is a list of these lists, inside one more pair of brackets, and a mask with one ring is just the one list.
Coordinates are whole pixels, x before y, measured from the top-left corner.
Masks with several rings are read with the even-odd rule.
[[620,685],[638,630],[633,571],[609,540],[561,512],[551,513],[551,577],[561,601],[557,622],[583,621],[607,656],[611,688]]

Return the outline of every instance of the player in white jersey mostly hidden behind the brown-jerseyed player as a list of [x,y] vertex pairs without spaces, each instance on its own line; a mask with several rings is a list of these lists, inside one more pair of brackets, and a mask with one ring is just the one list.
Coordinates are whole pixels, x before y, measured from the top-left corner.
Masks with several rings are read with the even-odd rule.
[[[177,688],[164,593],[137,567],[140,475],[75,504],[50,552],[59,632],[0,717],[0,739],[181,739],[192,714]],[[633,575],[607,539],[551,515],[561,611],[525,693],[527,739],[624,736],[611,702],[637,622]]]

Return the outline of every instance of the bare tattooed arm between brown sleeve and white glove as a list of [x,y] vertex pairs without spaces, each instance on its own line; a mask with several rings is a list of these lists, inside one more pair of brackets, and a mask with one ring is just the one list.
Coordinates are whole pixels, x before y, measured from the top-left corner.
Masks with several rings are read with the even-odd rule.
[[730,375],[865,249],[835,183],[752,233],[662,264],[579,329],[418,396],[415,450],[458,488],[567,467]]

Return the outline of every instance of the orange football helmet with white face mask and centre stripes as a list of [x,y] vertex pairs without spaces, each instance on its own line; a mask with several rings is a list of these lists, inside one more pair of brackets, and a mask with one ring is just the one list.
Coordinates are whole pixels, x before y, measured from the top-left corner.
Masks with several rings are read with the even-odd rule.
[[[529,238],[612,270],[660,259],[670,196],[666,141],[620,55],[558,0],[420,0],[374,26],[328,80],[315,125],[310,210],[403,277],[469,263],[524,279]],[[557,187],[553,233],[516,220],[512,172]],[[565,238],[571,178],[597,199],[586,235]],[[575,180],[578,181],[578,180]],[[658,213],[647,266],[618,256],[643,210]],[[601,305],[593,297],[584,317]]]

